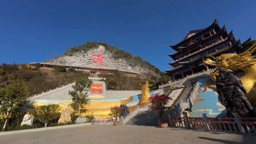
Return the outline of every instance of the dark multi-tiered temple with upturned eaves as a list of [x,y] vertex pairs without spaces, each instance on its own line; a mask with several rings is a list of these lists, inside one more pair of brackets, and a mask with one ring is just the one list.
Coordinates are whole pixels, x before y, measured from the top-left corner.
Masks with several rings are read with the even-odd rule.
[[176,53],[168,54],[174,61],[169,63],[172,69],[165,71],[176,80],[208,70],[203,64],[203,57],[242,50],[242,44],[234,38],[233,31],[228,33],[226,26],[221,28],[217,19],[207,28],[190,30],[181,42],[170,47]]

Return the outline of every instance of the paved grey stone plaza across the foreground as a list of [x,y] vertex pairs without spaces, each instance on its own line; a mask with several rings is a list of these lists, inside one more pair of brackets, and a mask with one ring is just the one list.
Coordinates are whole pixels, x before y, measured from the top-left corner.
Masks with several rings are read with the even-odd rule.
[[89,125],[0,136],[0,144],[255,144],[255,134]]

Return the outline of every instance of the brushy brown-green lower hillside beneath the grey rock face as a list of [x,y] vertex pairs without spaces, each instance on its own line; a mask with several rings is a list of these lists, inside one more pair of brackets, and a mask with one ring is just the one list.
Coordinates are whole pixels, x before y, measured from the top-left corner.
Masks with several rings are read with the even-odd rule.
[[[74,69],[63,70],[56,67],[55,69],[31,68],[26,65],[2,64],[0,66],[0,88],[12,84],[15,80],[22,80],[28,85],[28,96],[42,93],[56,87],[63,86],[74,82],[79,78],[88,78],[90,74],[84,71]],[[157,85],[168,82],[168,77],[163,75],[161,78],[152,77],[152,79],[141,77],[130,77],[126,74],[115,72],[114,75],[100,74],[99,77],[106,78],[106,85],[111,90],[140,90],[139,84],[144,84],[149,80],[156,89]],[[110,82],[111,86],[108,86]],[[114,87],[112,84],[115,84]]]

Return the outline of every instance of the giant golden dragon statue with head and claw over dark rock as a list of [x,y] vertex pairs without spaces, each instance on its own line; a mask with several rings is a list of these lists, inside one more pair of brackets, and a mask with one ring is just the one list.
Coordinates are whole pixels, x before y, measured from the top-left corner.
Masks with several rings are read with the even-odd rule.
[[[229,72],[242,70],[244,74],[239,80],[242,81],[244,88],[246,89],[246,97],[253,104],[256,102],[256,58],[252,56],[252,53],[256,50],[256,42],[241,54],[222,54],[215,59],[215,61],[207,58],[204,61],[205,66],[216,66],[216,70],[210,73],[210,77],[215,82],[218,77],[219,68],[222,67]],[[255,48],[254,48],[255,47]],[[212,84],[212,80],[206,80],[205,86],[216,90],[215,85]]]

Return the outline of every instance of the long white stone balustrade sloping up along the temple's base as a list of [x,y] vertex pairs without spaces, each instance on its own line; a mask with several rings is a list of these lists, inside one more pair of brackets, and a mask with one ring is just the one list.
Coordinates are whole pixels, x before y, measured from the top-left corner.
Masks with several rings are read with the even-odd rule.
[[196,77],[196,76],[202,76],[202,75],[204,75],[204,74],[208,74],[208,75],[210,75],[210,72],[213,72],[215,70],[215,68],[214,69],[209,69],[209,70],[203,70],[202,72],[197,72],[197,73],[195,73],[195,74],[190,74],[190,75],[187,75],[186,77],[184,77],[184,78],[180,78],[180,79],[178,79],[178,80],[174,80],[174,81],[172,81],[172,82],[170,82],[170,83],[166,83],[166,84],[163,84],[163,85],[158,85],[158,87],[159,88],[165,88],[165,87],[167,87],[167,86],[182,86],[182,84],[184,83],[184,82],[186,82],[186,80],[188,80],[188,79],[190,79],[190,78],[194,78],[194,77]]

